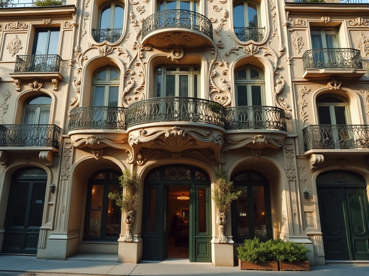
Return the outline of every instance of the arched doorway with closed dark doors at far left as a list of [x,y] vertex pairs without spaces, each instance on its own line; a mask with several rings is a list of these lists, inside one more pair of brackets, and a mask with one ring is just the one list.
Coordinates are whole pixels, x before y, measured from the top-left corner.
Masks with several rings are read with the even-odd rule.
[[38,236],[44,214],[47,173],[26,168],[11,180],[1,253],[37,254]]

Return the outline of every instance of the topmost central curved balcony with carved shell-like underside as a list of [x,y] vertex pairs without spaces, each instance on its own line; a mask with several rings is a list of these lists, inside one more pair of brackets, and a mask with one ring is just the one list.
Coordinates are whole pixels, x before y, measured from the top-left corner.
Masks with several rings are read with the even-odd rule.
[[142,23],[142,45],[147,44],[165,48],[212,46],[213,25],[194,11],[159,11]]

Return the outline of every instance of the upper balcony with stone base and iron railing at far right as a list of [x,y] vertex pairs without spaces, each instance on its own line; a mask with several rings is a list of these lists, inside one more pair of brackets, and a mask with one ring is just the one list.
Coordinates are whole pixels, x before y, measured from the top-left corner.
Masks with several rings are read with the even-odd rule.
[[348,76],[361,77],[363,69],[360,50],[351,48],[319,48],[303,54],[303,77]]

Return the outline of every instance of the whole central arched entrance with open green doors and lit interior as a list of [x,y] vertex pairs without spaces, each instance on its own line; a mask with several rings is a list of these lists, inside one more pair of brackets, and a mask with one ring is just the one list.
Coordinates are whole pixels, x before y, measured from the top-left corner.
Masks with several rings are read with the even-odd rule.
[[211,262],[211,190],[204,170],[161,166],[145,178],[142,259]]

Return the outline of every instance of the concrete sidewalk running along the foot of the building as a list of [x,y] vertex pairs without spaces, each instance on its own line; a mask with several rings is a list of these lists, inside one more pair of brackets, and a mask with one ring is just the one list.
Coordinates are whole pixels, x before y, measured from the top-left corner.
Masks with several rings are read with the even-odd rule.
[[[312,266],[310,272],[254,271],[235,267],[215,267],[209,264],[189,263],[184,260],[160,263],[117,263],[114,261],[36,259],[34,256],[0,255],[0,276],[20,276],[28,272],[36,275],[86,274],[86,275],[198,275],[198,276],[369,276],[369,264]],[[28,274],[28,276],[32,276]]]

